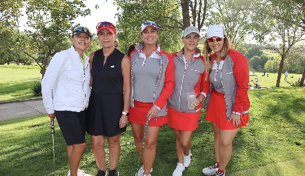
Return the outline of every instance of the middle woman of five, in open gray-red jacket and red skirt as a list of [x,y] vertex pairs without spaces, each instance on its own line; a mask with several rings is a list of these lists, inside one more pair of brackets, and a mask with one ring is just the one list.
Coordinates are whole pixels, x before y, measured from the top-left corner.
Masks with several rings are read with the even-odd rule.
[[[145,21],[141,25],[142,44],[135,46],[131,59],[130,116],[137,152],[144,166],[136,176],[150,175],[156,155],[157,137],[160,127],[167,123],[166,102],[173,93],[173,57],[157,45],[158,25]],[[144,126],[149,119],[144,149]]]

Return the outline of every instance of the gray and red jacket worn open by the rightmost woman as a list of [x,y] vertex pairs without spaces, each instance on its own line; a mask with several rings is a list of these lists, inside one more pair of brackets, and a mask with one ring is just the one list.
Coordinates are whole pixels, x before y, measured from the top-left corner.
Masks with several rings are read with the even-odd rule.
[[[215,54],[211,58],[215,58]],[[238,115],[248,113],[250,101],[247,94],[249,83],[247,58],[242,53],[230,49],[224,59],[224,65],[220,74],[224,87],[224,99],[226,100],[226,118],[229,119],[232,113]],[[210,92],[204,102],[205,111],[208,109],[213,89],[214,86],[211,84]]]

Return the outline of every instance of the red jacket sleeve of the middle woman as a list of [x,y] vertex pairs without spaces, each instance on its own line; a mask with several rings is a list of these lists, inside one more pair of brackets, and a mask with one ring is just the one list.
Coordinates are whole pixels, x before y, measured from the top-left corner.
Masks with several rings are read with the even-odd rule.
[[165,106],[168,98],[173,93],[175,85],[175,66],[173,56],[170,56],[170,54],[166,52],[164,52],[164,54],[166,54],[166,56],[168,57],[168,65],[166,67],[165,72],[164,87],[161,91],[159,98],[155,102],[155,105],[160,109]]

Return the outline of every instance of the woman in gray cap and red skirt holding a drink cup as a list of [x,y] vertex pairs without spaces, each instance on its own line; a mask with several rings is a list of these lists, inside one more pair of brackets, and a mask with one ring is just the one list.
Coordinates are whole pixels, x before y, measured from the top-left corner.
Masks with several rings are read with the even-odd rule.
[[[208,94],[210,82],[206,80],[204,58],[197,48],[200,33],[194,26],[183,32],[184,47],[174,53],[175,87],[168,98],[168,124],[174,129],[178,164],[173,176],[181,176],[190,165],[190,137],[198,127],[202,100]],[[193,94],[195,100],[188,100]]]

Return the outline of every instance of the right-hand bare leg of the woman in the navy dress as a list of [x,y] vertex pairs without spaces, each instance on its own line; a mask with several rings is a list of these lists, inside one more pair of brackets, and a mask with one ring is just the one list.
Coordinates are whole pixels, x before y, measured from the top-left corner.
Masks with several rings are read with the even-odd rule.
[[119,154],[121,151],[121,145],[119,144],[119,136],[107,137],[109,148],[109,160],[110,170],[117,168],[117,162],[119,162]]

